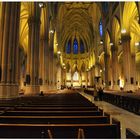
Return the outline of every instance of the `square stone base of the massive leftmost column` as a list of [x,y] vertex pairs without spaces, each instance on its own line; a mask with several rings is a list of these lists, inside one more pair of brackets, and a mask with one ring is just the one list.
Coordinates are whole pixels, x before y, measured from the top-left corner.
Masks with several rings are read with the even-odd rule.
[[0,84],[0,98],[10,99],[18,97],[18,85],[16,84]]

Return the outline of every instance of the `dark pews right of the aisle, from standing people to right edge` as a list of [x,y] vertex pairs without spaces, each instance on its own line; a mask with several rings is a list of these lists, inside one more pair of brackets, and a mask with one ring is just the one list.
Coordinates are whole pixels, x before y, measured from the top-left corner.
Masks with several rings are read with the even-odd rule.
[[140,115],[140,94],[104,92],[103,100]]

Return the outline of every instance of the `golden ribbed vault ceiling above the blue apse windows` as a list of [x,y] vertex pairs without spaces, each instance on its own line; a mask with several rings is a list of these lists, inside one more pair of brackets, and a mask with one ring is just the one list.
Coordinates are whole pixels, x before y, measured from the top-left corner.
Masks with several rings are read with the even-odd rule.
[[[91,12],[91,8],[96,9],[96,7],[96,4],[90,2],[68,2],[59,5],[57,30],[60,33],[58,38],[61,46],[65,46],[70,38],[76,37],[82,39],[89,50],[94,39],[93,25],[97,22],[93,21],[93,14],[97,13]],[[100,17],[100,12],[98,16]]]

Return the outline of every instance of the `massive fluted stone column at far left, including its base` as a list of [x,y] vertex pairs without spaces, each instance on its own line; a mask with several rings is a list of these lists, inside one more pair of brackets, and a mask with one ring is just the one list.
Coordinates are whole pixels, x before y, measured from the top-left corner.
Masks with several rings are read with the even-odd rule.
[[0,98],[18,96],[20,3],[3,2],[0,36]]

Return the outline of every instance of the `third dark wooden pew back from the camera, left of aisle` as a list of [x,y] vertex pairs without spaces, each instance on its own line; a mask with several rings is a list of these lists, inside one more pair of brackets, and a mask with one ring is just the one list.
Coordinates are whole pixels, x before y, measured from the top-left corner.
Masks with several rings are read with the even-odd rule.
[[3,116],[101,116],[100,111],[5,111]]

